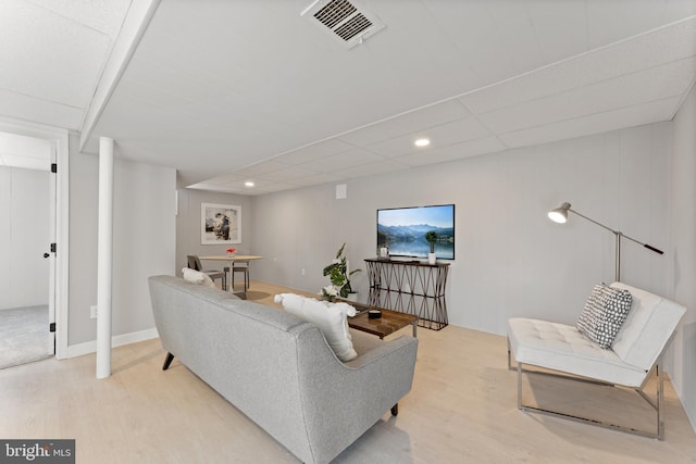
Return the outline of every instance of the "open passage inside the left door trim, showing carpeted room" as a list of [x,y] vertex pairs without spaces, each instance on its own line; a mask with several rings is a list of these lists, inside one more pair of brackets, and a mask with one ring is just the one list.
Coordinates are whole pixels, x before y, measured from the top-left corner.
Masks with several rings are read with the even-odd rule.
[[0,133],[0,368],[54,354],[54,149],[49,140]]

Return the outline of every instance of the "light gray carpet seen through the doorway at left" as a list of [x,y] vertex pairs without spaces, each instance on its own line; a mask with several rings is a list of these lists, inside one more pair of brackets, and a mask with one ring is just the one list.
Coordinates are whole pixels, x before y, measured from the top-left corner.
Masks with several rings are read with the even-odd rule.
[[0,310],[0,369],[51,356],[48,306]]

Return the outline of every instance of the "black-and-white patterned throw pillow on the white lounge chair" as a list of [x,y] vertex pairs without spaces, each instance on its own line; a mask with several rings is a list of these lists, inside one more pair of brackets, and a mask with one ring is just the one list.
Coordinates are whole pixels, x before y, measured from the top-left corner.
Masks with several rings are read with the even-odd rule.
[[575,327],[601,348],[609,348],[629,315],[632,300],[629,290],[597,284]]

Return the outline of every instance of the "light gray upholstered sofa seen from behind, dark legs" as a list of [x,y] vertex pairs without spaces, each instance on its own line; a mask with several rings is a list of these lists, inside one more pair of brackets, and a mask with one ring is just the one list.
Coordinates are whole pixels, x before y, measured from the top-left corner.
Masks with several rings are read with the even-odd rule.
[[418,340],[351,333],[340,362],[319,328],[283,310],[173,276],[149,278],[164,369],[173,359],[307,463],[327,463],[411,389]]

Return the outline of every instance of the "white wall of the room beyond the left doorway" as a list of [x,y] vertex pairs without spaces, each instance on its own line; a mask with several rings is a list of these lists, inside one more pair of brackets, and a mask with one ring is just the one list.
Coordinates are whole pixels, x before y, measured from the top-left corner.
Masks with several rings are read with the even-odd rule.
[[49,176],[0,166],[0,310],[48,304]]

